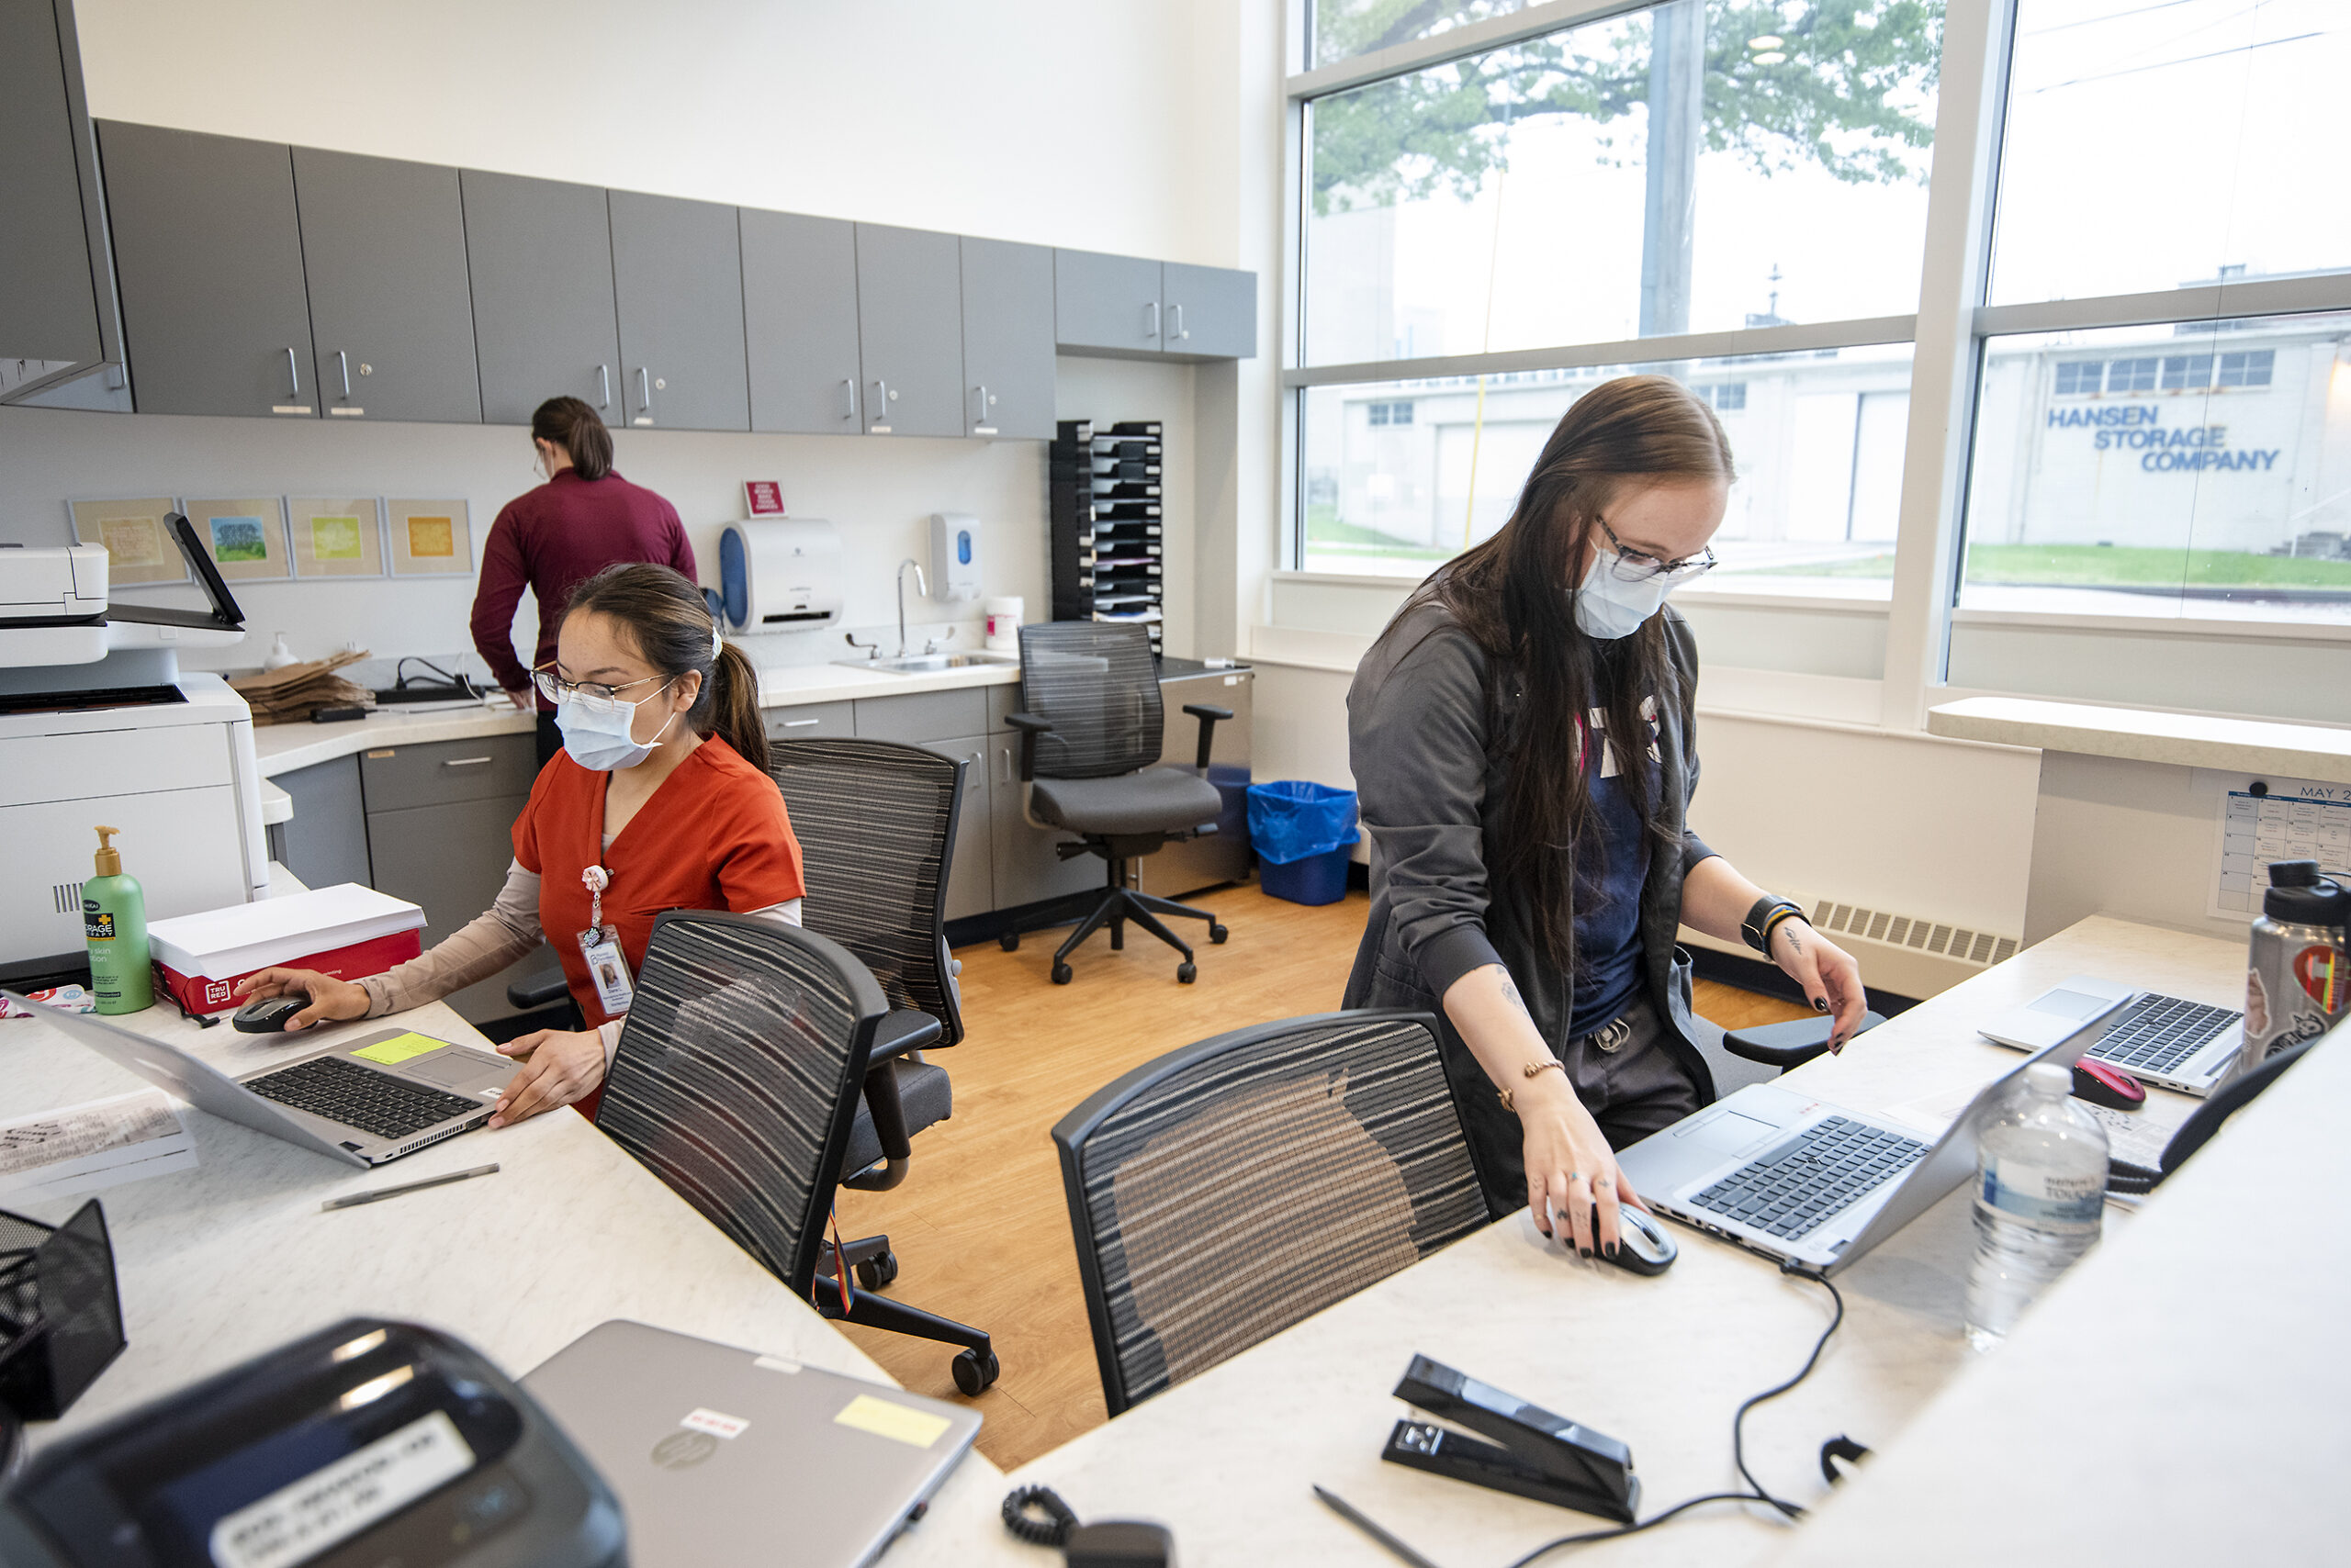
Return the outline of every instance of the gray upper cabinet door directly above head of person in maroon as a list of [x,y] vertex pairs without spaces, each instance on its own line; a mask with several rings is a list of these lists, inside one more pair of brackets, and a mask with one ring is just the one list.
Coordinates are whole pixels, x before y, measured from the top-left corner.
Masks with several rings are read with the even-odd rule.
[[604,190],[480,169],[461,188],[482,418],[527,425],[548,397],[583,397],[607,425],[628,423]]

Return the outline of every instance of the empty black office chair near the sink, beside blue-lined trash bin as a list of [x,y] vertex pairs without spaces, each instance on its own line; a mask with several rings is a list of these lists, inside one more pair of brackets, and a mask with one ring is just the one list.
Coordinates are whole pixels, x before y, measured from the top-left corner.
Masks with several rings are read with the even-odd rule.
[[1225,797],[1208,783],[1208,745],[1232,710],[1187,703],[1185,712],[1199,719],[1199,764],[1154,766],[1164,710],[1150,632],[1096,621],[1020,628],[1020,705],[1011,715],[1020,731],[1020,809],[1037,827],[1079,835],[1074,844],[1056,844],[1056,853],[1100,856],[1107,886],[1030,910],[999,938],[1004,950],[1020,947],[1023,931],[1074,917],[1077,931],[1053,952],[1053,985],[1067,985],[1070,954],[1089,936],[1107,924],[1110,945],[1126,947],[1126,922],[1136,922],[1183,954],[1176,978],[1190,985],[1199,973],[1192,945],[1159,917],[1204,919],[1211,943],[1225,940],[1225,926],[1208,910],[1126,886],[1126,863],[1173,839],[1215,832]]

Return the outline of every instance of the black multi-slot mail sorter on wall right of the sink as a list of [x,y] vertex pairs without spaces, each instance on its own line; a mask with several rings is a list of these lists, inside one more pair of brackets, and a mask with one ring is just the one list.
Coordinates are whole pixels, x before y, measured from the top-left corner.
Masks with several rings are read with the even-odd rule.
[[1166,541],[1157,418],[1107,430],[1065,418],[1046,463],[1053,520],[1053,618],[1133,621],[1152,654],[1166,611]]

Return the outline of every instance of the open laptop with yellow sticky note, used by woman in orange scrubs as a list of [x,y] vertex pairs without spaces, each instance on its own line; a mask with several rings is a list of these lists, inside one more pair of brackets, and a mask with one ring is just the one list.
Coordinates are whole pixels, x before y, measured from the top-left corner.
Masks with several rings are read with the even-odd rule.
[[0,994],[197,1110],[346,1166],[381,1166],[470,1133],[489,1121],[498,1091],[515,1077],[515,1063],[503,1056],[414,1030],[376,1030],[233,1079],[179,1046],[94,1013]]

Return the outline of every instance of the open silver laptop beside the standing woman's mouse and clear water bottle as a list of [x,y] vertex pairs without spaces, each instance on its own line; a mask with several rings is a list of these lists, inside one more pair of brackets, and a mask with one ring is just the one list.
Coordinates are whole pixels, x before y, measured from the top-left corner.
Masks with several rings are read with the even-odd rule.
[[1975,1126],[2034,1063],[2071,1067],[2097,1037],[2076,1025],[1984,1084],[1935,1143],[1895,1121],[1749,1084],[1617,1154],[1662,1215],[1780,1262],[1836,1274],[1975,1175]]

